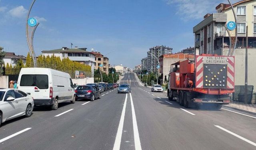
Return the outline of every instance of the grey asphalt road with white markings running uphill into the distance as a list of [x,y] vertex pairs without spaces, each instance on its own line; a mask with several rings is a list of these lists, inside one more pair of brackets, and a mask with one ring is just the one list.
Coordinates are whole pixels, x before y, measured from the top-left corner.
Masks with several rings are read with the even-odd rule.
[[30,118],[5,122],[0,150],[256,149],[256,116],[185,109],[165,92],[140,87],[134,74],[125,74],[122,83],[131,85],[131,94],[109,90],[93,102],[36,108]]

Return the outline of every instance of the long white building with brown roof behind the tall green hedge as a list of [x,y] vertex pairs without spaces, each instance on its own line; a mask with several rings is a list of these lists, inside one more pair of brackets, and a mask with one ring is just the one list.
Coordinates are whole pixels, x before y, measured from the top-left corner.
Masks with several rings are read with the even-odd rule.
[[92,76],[94,76],[95,68],[95,56],[92,52],[86,51],[87,48],[77,48],[74,49],[62,47],[56,50],[42,50],[43,56],[57,56],[62,60],[63,58],[69,58],[72,61],[80,62],[81,64],[86,64],[91,66]]

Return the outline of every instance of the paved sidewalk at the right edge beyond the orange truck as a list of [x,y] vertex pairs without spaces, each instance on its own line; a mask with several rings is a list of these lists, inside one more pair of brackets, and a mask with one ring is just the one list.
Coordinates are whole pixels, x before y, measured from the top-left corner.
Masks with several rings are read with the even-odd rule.
[[228,105],[224,105],[224,106],[256,113],[256,104],[243,104],[240,102],[233,101],[232,103],[230,103]]

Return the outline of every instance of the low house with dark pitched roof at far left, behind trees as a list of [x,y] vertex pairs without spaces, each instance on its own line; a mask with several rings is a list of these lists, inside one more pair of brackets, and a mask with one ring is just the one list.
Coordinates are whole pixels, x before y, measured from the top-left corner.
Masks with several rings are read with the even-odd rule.
[[26,64],[26,57],[22,55],[15,55],[14,52],[6,52],[4,55],[4,64],[8,63],[9,65],[12,65],[12,67],[16,66],[18,60],[22,60],[24,65]]

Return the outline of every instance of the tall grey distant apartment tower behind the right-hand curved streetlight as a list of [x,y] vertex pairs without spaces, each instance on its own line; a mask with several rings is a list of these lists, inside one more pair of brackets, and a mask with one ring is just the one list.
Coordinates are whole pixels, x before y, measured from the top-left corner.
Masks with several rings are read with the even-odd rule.
[[[172,48],[166,47],[166,46],[155,46],[153,48],[149,49],[148,53],[148,58],[147,58],[147,66],[148,66],[148,71],[150,72],[156,72],[157,71],[157,66],[159,65],[158,60],[156,59],[159,58],[161,55],[164,54],[172,54]],[[154,57],[156,56],[156,57]]]

